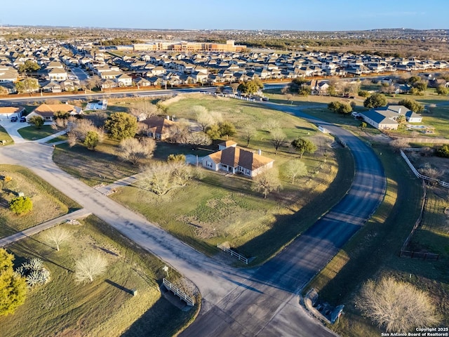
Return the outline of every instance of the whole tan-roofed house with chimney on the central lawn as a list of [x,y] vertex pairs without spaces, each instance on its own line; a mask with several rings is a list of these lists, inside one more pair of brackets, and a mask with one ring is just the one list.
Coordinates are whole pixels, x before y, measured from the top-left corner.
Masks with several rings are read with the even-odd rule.
[[236,145],[232,141],[221,143],[219,150],[204,157],[201,164],[209,170],[241,173],[248,178],[254,178],[273,167],[274,159],[262,156],[260,150],[255,153]]

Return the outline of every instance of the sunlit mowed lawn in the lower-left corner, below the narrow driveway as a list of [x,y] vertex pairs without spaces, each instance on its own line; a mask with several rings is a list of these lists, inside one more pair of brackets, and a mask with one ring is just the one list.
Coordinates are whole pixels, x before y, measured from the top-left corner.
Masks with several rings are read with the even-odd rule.
[[[2,336],[173,336],[192,319],[197,308],[184,312],[161,296],[161,260],[94,216],[61,226],[73,239],[60,251],[44,243],[45,232],[7,247],[16,265],[41,258],[51,281],[29,291],[14,315],[0,317]],[[76,260],[92,253],[107,259],[106,272],[76,284]],[[179,279],[175,271],[170,277]]]

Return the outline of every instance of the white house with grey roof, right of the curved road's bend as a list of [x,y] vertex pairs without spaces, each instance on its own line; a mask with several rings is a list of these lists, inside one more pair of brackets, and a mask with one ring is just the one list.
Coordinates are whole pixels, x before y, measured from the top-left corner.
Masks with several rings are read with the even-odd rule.
[[379,130],[396,130],[399,126],[396,120],[400,115],[404,115],[409,123],[422,122],[420,114],[408,110],[403,105],[387,105],[387,107],[360,112],[360,115],[366,123]]

